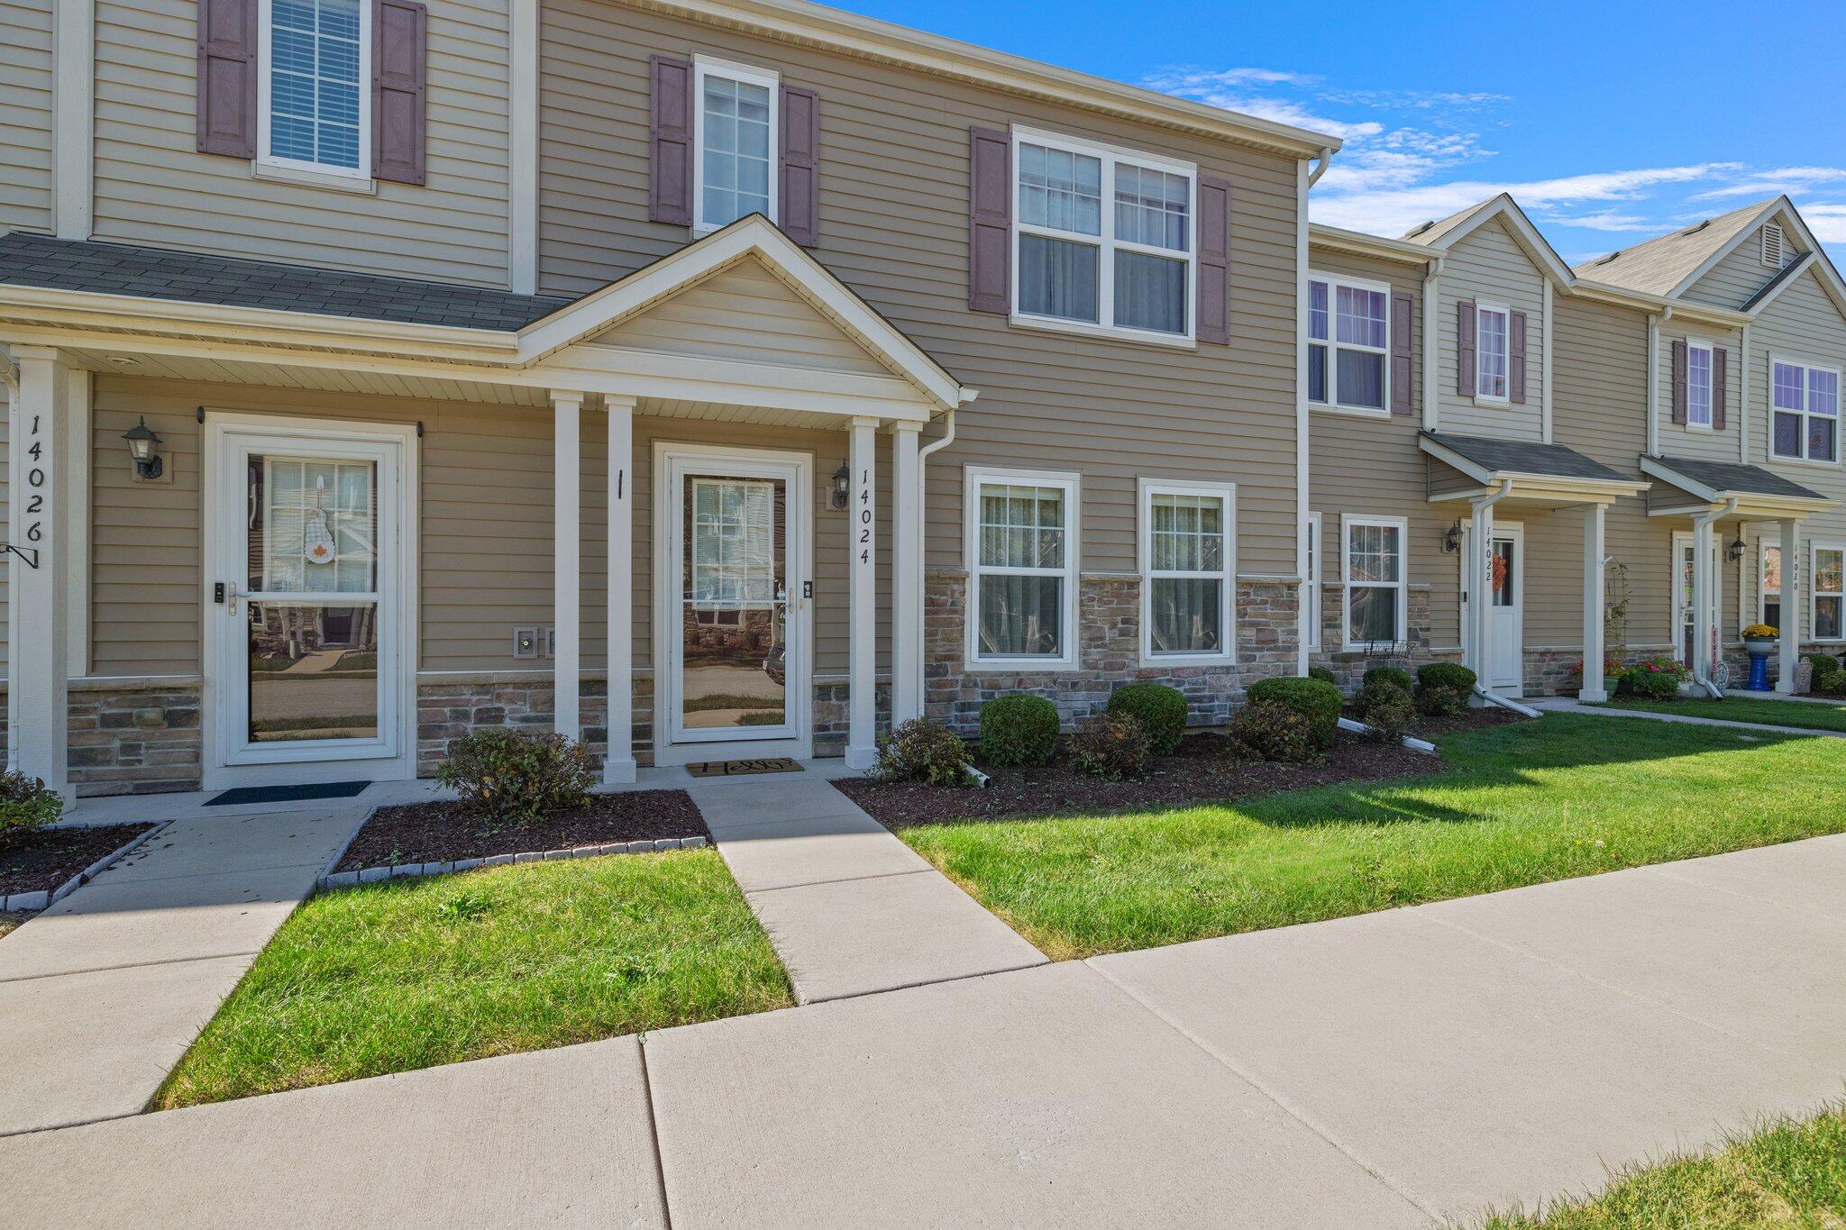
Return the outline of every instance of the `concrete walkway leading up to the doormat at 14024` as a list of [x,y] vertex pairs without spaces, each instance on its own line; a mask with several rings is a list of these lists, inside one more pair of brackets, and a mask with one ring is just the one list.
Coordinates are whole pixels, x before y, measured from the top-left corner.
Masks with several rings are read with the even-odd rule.
[[796,999],[820,1003],[1045,964],[829,778],[801,773],[692,778],[705,826],[770,942]]

